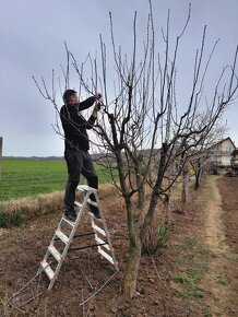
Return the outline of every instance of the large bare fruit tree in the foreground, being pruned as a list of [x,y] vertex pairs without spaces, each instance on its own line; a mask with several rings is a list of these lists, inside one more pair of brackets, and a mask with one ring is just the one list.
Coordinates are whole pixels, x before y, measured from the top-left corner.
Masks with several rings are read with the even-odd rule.
[[[148,4],[146,38],[141,45],[134,14],[131,55],[117,47],[110,14],[112,56],[100,36],[100,58],[87,59],[90,78],[84,75],[86,62],[78,64],[68,48],[68,66],[63,71],[66,87],[69,86],[69,69],[73,69],[79,78],[80,91],[94,93],[100,89],[104,94],[102,115],[94,128],[97,136],[94,146],[98,148],[97,152],[104,157],[103,162],[124,199],[130,240],[124,292],[130,297],[135,294],[142,246],[157,212],[158,200],[168,201],[170,189],[194,156],[194,150],[204,144],[214,125],[235,98],[238,87],[236,49],[233,64],[222,69],[210,98],[203,95],[209,64],[217,45],[215,43],[205,59],[204,27],[194,56],[189,96],[178,103],[178,55],[190,20],[190,7],[185,26],[175,39],[169,37],[168,12],[167,25],[162,33],[164,47],[158,51],[151,1]],[[110,71],[108,64],[111,63]],[[58,109],[53,84],[50,92],[44,80],[43,86],[38,83],[37,86]],[[202,120],[198,125],[199,118]],[[58,122],[55,129],[61,133]],[[145,200],[147,186],[150,196]]]

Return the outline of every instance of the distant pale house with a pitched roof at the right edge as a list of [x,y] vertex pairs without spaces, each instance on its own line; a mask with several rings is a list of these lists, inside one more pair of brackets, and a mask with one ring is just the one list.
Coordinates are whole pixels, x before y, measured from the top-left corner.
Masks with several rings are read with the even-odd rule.
[[219,141],[210,148],[210,153],[212,155],[211,163],[219,167],[230,166],[231,154],[235,150],[236,146],[230,138]]

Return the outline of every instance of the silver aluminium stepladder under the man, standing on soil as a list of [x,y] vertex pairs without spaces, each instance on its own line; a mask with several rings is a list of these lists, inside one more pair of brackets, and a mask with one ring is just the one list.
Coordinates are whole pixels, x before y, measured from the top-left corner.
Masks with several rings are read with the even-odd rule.
[[[50,245],[48,246],[48,249],[46,251],[46,255],[43,259],[43,261],[40,262],[40,267],[38,272],[44,271],[46,273],[46,275],[49,279],[49,285],[48,285],[48,290],[51,290],[53,286],[53,283],[60,272],[60,268],[67,257],[67,254],[70,249],[70,245],[73,240],[75,231],[80,224],[81,218],[87,207],[87,203],[97,207],[99,210],[99,214],[100,214],[100,220],[96,219],[93,213],[88,212],[90,219],[91,219],[91,225],[93,228],[93,233],[94,233],[94,237],[96,240],[96,245],[93,246],[86,246],[86,247],[97,247],[98,253],[100,254],[102,257],[104,257],[106,260],[108,260],[116,270],[118,270],[118,263],[115,257],[115,251],[111,245],[111,240],[110,240],[110,234],[108,232],[107,228],[107,224],[105,221],[105,216],[104,216],[104,212],[100,208],[100,203],[99,203],[99,198],[97,195],[97,189],[88,187],[87,185],[80,185],[76,188],[80,191],[83,191],[84,193],[84,200],[82,203],[75,201],[74,204],[78,209],[78,216],[76,216],[76,221],[73,223],[71,221],[69,221],[64,215],[62,215],[59,225],[55,232],[55,235],[50,242]],[[96,201],[92,201],[90,199],[90,195],[94,193]],[[70,234],[64,234],[62,231],[63,225],[68,225],[70,226]],[[82,235],[83,236],[83,235]],[[61,242],[63,244],[63,249],[60,253],[57,247],[56,247],[56,242]],[[85,248],[85,247],[82,247]],[[51,263],[49,261],[49,257],[52,257],[56,260],[56,266],[55,269],[52,269]]]

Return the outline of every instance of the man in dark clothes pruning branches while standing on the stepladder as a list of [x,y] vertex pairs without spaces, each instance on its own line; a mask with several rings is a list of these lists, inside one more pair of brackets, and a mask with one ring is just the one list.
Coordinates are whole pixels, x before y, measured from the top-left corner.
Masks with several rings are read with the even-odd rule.
[[[68,181],[64,195],[64,216],[72,222],[75,222],[76,220],[74,201],[80,175],[82,174],[86,178],[90,187],[98,188],[98,177],[88,153],[90,140],[86,130],[93,128],[100,105],[99,103],[96,103],[88,120],[82,116],[81,111],[93,106],[100,97],[102,94],[97,92],[94,96],[80,103],[78,93],[74,90],[66,90],[63,93],[64,105],[60,109],[60,119],[64,131],[64,158],[68,167]],[[94,193],[91,193],[90,199],[92,201],[96,200]],[[95,218],[100,218],[96,206],[90,204],[90,209]]]

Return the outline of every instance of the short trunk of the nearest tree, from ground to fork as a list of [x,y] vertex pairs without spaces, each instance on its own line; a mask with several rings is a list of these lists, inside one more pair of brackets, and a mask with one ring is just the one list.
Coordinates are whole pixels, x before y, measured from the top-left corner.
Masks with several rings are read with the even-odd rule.
[[124,274],[124,293],[131,298],[135,294],[140,260],[141,260],[141,240],[140,238],[136,238],[136,243],[130,245],[129,257],[127,261],[127,270]]

